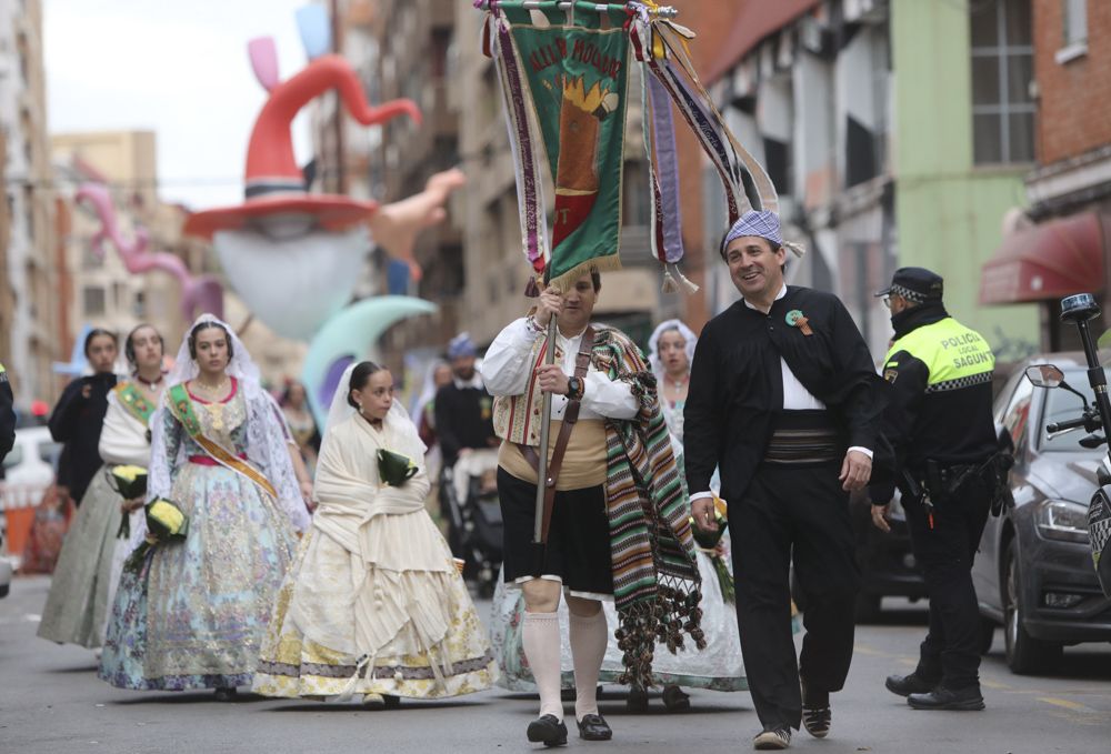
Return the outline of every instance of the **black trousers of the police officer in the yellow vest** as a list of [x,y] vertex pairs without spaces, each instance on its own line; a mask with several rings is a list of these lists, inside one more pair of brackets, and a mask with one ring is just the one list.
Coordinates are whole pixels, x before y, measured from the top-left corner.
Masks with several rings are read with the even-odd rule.
[[949,500],[934,502],[930,529],[922,502],[903,497],[911,546],[930,593],[930,632],[915,673],[950,688],[980,684],[980,609],[972,586],[972,561],[989,507],[987,487],[973,479]]

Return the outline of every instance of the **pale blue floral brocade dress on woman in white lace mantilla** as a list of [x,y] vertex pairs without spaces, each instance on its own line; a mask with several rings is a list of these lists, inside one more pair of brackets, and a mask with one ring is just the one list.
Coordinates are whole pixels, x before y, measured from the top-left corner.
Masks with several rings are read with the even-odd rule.
[[[219,403],[190,398],[204,436],[246,459],[238,384]],[[170,410],[161,419],[170,499],[189,529],[183,541],[154,545],[141,570],[124,571],[99,675],[136,690],[249,685],[297,534],[258,484],[217,463]]]

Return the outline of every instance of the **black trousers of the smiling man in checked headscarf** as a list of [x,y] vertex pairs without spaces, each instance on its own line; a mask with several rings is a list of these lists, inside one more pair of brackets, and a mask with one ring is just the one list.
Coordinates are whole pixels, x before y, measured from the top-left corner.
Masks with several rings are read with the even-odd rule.
[[[840,461],[764,463],[744,499],[729,506],[741,653],[764,727],[799,727],[800,676],[808,687],[831,692],[840,691],[849,674],[860,572],[840,468]],[[792,555],[807,601],[798,661],[791,633]]]

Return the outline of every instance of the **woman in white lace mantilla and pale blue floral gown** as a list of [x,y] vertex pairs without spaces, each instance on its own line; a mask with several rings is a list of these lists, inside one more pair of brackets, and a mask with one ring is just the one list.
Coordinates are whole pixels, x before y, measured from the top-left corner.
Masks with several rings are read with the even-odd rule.
[[124,570],[100,677],[123,688],[216,688],[227,701],[253,678],[297,532],[309,524],[292,438],[247,349],[211,314],[182,343],[152,426],[147,500],[176,504],[188,531]]

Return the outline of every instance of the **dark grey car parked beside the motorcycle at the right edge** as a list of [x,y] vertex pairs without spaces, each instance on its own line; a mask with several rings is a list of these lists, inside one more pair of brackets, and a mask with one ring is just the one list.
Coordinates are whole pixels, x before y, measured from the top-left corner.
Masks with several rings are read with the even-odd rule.
[[1047,670],[1065,645],[1111,641],[1111,600],[1088,544],[1088,502],[1107,449],[1083,448],[1083,430],[1047,435],[1047,424],[1079,416],[1083,403],[1067,390],[1034,388],[1023,374],[1034,363],[1057,364],[1092,400],[1082,353],[1027,360],[995,400],[995,423],[1014,443],[1014,505],[988,520],[972,579],[985,627],[1003,626],[1014,673]]

